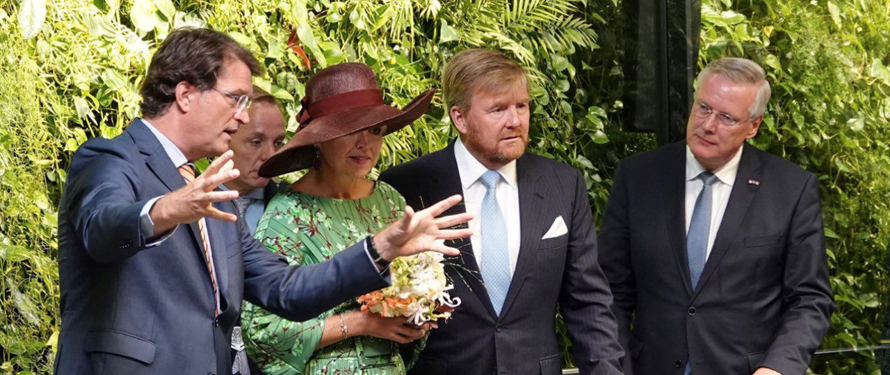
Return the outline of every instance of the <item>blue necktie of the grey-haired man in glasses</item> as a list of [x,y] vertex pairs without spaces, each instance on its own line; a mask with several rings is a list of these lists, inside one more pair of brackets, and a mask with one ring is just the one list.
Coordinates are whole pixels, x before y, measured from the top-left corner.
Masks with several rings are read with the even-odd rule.
[[[692,290],[699,285],[701,270],[705,268],[705,259],[708,254],[708,236],[711,232],[711,196],[713,195],[714,182],[717,177],[711,172],[701,172],[699,175],[701,187],[699,197],[695,200],[695,208],[692,210],[692,222],[689,224],[689,233],[686,234],[686,258],[689,259],[689,276],[692,279]],[[692,372],[692,361],[687,359],[684,375]]]

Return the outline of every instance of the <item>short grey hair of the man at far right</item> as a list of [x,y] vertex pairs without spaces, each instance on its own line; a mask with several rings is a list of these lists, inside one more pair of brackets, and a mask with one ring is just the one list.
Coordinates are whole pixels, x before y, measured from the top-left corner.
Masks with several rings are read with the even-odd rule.
[[695,78],[695,92],[698,96],[701,84],[711,75],[720,75],[732,81],[733,84],[754,84],[757,86],[757,94],[751,108],[748,108],[748,119],[762,116],[766,112],[766,103],[770,101],[772,91],[770,83],[766,82],[766,73],[756,62],[736,57],[714,60],[701,69],[699,76]]

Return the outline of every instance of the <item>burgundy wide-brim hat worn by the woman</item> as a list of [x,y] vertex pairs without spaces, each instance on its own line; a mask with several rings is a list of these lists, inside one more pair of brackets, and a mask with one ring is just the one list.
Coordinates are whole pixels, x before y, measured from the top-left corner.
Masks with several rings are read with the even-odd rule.
[[367,65],[347,62],[324,68],[306,83],[299,129],[260,166],[259,174],[275,177],[309,168],[315,162],[312,145],[327,140],[377,126],[386,126],[384,135],[398,131],[424,115],[433,92],[427,90],[400,110],[384,104],[374,70]]

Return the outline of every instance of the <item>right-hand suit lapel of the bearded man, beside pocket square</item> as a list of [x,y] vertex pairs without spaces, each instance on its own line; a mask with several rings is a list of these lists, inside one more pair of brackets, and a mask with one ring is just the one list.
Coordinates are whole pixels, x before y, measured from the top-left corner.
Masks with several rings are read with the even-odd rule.
[[[506,293],[504,307],[501,308],[502,316],[506,315],[516,295],[522,289],[522,283],[525,283],[534,261],[538,243],[541,242],[540,219],[546,209],[543,187],[538,183],[541,176],[543,176],[542,171],[535,168],[534,161],[528,156],[522,156],[516,161],[516,184],[519,187],[519,259],[516,260],[510,289]],[[548,224],[545,222],[543,225]]]

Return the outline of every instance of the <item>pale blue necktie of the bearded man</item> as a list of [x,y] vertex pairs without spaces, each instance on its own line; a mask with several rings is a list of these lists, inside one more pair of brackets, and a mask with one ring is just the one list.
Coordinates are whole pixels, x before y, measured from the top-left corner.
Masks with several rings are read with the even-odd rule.
[[485,172],[479,180],[486,188],[480,215],[482,237],[480,271],[485,289],[489,291],[491,306],[495,307],[495,314],[499,316],[501,307],[504,307],[506,291],[510,289],[510,257],[506,243],[506,224],[498,205],[498,196],[495,195],[500,173]]

